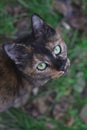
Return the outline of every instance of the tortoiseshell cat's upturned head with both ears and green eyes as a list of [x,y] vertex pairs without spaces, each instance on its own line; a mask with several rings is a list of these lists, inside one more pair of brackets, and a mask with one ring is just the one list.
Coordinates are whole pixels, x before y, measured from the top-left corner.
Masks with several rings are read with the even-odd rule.
[[5,44],[6,54],[34,86],[59,78],[70,65],[67,47],[60,34],[39,16],[32,16],[32,42]]

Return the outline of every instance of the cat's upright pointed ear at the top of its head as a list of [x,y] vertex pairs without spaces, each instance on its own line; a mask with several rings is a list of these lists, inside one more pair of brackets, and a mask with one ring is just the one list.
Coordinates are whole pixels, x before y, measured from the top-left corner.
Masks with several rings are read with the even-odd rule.
[[32,15],[31,22],[35,38],[41,38],[43,36],[49,37],[56,33],[56,31],[51,26],[46,24],[37,14]]

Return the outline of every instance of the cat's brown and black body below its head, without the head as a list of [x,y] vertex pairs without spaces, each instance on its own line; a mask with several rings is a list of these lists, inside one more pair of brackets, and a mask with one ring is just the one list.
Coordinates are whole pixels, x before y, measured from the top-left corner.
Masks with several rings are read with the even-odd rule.
[[[28,87],[29,86],[29,87]],[[4,51],[0,54],[0,112],[25,103],[30,93],[29,82],[18,72]]]

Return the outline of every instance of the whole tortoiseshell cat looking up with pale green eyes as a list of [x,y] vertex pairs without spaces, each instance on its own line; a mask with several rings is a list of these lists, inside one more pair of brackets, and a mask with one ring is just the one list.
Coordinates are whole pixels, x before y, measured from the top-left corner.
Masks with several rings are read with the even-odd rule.
[[64,74],[70,65],[60,34],[33,14],[32,33],[0,45],[0,112],[27,102],[32,88]]

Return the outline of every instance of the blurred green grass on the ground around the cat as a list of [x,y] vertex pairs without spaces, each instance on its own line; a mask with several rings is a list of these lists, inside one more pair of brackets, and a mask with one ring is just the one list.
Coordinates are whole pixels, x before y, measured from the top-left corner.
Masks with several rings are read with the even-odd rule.
[[[86,2],[86,0],[83,0],[83,2]],[[19,5],[22,8],[26,8],[27,13],[24,15],[29,17],[32,13],[37,13],[53,27],[57,27],[58,22],[62,19],[60,14],[52,10],[53,0],[3,0],[0,2],[0,34],[5,34],[8,37],[9,35],[13,36],[17,31],[17,28],[14,26],[15,20],[18,20],[23,16],[12,16],[7,14],[4,10],[6,5],[11,7],[14,5]],[[72,103],[77,107],[71,108],[68,113],[74,117],[74,124],[72,127],[68,128],[63,122],[58,123],[58,121],[53,118],[44,116],[39,119],[34,119],[33,117],[23,113],[21,109],[12,109],[8,112],[1,113],[3,121],[1,121],[0,124],[6,125],[5,130],[9,129],[9,127],[16,130],[45,130],[45,124],[47,122],[54,125],[54,130],[78,130],[79,128],[83,130],[87,129],[87,126],[81,121],[81,119],[79,119],[78,116],[79,111],[87,102],[87,99],[81,98],[79,91],[74,89],[74,86],[78,85],[76,80],[77,72],[82,72],[84,75],[84,80],[87,81],[87,38],[84,37],[80,31],[72,28],[71,30],[65,30],[64,28],[62,35],[68,46],[68,56],[71,60],[71,67],[69,68],[67,76],[61,77],[58,80],[53,80],[47,85],[50,87],[49,92],[58,92],[56,100],[60,100],[64,94],[69,95],[69,88],[73,89],[75,99]]]

